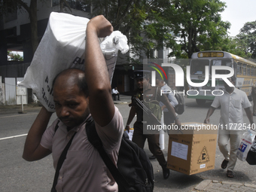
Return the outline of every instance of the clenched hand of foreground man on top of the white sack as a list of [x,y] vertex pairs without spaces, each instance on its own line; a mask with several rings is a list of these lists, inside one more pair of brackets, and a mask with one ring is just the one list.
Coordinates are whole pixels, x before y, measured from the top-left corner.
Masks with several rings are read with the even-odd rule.
[[87,23],[87,30],[96,31],[98,38],[105,38],[113,32],[113,26],[103,15],[93,17]]

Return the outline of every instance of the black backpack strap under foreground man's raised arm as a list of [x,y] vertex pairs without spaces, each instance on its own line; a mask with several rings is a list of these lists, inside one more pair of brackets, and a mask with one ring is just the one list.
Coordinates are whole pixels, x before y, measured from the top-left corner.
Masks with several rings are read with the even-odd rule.
[[126,181],[126,179],[123,177],[123,175],[120,174],[117,167],[114,165],[110,157],[108,157],[108,154],[105,152],[102,141],[99,138],[99,135],[96,131],[95,123],[93,120],[93,117],[89,117],[86,124],[86,132],[87,132],[87,138],[89,142],[93,145],[94,148],[96,148],[97,151],[99,151],[100,157],[102,157],[102,160],[104,161],[105,165],[108,167],[108,170],[111,172],[111,175],[114,177],[114,180],[118,184],[118,189],[120,192],[125,192],[126,188],[128,188],[130,185]]

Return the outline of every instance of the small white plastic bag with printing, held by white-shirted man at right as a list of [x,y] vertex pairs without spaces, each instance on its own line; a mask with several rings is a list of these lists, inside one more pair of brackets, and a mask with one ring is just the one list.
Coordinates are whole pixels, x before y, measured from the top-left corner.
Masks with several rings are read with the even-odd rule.
[[241,136],[241,142],[236,154],[236,157],[239,160],[245,161],[248,151],[251,148],[252,143],[254,142],[254,137],[256,133],[253,130],[247,130],[245,133]]

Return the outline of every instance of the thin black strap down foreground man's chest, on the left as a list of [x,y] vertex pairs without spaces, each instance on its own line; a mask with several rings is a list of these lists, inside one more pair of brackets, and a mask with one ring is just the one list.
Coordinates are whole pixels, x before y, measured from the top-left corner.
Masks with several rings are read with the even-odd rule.
[[[58,121],[58,123],[59,123],[59,121]],[[58,123],[56,123],[55,132],[59,128]],[[69,140],[68,144],[66,145],[66,147],[62,151],[62,154],[59,156],[58,164],[57,164],[57,167],[56,167],[56,172],[55,172],[54,179],[53,179],[53,187],[51,188],[50,192],[56,192],[56,188],[55,187],[56,187],[56,184],[57,184],[57,181],[58,181],[58,177],[59,177],[59,170],[62,167],[62,164],[63,164],[64,160],[66,160],[66,155],[67,155],[67,153],[69,151],[69,147],[70,147],[70,145],[72,143],[72,140],[75,137],[75,134],[76,134],[76,132],[74,133],[72,138]]]

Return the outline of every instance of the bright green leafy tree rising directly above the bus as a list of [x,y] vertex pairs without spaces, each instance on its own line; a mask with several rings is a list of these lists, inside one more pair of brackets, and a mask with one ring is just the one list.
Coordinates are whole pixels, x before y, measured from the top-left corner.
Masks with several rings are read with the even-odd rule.
[[171,5],[168,11],[170,28],[181,38],[181,50],[174,47],[173,53],[184,52],[190,58],[192,53],[200,50],[221,50],[230,28],[230,23],[221,21],[219,14],[226,7],[224,2],[171,0]]

